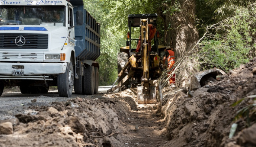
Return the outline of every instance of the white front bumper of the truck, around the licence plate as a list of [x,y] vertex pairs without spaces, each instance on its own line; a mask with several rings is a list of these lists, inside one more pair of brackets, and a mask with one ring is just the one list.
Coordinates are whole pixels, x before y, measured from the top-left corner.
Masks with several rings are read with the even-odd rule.
[[[18,68],[17,68],[18,67]],[[24,75],[62,74],[67,63],[6,63],[0,62],[0,75],[12,75],[13,71]]]

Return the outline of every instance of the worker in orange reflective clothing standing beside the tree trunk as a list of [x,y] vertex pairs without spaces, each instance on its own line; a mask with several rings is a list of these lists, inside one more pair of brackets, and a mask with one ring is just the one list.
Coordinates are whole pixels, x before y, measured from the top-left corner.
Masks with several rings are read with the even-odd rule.
[[[165,67],[165,60],[167,58],[168,62],[168,70],[171,69],[175,63],[175,55],[174,55],[174,49],[171,47],[166,47],[165,53],[163,55],[163,67]],[[174,70],[174,69],[173,69]],[[169,74],[171,74],[170,72]],[[170,84],[175,83],[175,74],[169,79]]]

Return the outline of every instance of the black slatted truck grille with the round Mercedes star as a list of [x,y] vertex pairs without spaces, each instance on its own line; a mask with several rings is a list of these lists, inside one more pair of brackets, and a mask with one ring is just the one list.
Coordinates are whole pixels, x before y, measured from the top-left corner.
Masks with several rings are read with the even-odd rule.
[[[16,43],[15,43],[15,40],[16,40]],[[22,34],[21,33],[0,34],[0,49],[47,49],[47,48],[48,48],[48,34],[23,34],[23,33]]]

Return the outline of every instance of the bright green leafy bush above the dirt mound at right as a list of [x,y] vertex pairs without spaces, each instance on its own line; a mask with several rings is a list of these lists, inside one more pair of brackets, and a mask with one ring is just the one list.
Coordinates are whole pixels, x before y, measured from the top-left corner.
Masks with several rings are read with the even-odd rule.
[[208,65],[203,68],[217,67],[227,72],[252,58],[250,51],[255,47],[252,42],[255,26],[251,24],[256,23],[255,14],[254,10],[241,7],[233,17],[212,27],[200,43],[200,54],[203,55],[200,60]]

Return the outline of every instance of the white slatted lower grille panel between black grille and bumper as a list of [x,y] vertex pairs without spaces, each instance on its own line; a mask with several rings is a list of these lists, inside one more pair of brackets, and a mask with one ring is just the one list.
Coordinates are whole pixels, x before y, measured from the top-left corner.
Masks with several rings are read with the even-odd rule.
[[0,53],[0,61],[43,61],[43,53]]

